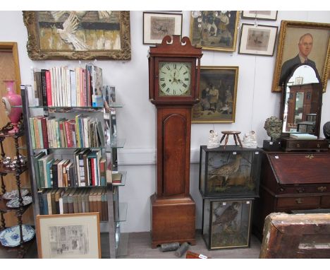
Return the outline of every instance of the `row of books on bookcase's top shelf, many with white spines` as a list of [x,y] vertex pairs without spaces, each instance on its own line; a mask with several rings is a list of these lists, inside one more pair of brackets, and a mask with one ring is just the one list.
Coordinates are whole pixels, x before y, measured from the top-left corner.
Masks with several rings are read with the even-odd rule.
[[74,69],[32,69],[31,106],[102,107],[102,69],[92,64]]

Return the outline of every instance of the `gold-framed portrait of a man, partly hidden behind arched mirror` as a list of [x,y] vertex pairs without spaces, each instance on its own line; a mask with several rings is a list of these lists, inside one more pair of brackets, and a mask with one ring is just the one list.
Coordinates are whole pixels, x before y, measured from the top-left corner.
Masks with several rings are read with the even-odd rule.
[[282,20],[271,91],[281,92],[293,67],[302,62],[315,66],[325,91],[330,69],[329,40],[330,23]]

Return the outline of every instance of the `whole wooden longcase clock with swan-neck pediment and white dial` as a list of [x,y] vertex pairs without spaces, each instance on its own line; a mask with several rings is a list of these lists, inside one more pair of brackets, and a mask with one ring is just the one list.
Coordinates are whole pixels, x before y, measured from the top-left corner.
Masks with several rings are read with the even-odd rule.
[[191,110],[199,97],[202,49],[166,36],[149,49],[149,100],[157,109],[157,191],[151,196],[152,247],[195,245],[195,201],[189,194]]

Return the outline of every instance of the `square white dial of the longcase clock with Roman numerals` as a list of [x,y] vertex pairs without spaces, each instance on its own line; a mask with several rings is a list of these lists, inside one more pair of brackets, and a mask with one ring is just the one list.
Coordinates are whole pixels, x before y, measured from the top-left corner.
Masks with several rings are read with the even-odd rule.
[[190,95],[190,62],[159,62],[159,95]]

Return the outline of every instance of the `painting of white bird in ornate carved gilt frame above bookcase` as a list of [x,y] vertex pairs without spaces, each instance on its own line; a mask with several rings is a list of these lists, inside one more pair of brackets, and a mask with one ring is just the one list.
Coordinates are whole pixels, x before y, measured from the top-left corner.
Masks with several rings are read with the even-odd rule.
[[23,11],[27,54],[45,59],[130,59],[129,11]]

